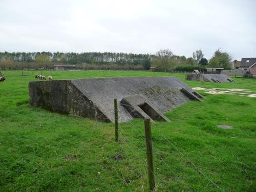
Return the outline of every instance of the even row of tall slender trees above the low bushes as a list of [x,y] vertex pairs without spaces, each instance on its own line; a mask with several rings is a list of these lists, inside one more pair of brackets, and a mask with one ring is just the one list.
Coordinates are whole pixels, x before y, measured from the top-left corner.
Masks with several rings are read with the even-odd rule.
[[60,62],[60,63],[92,63],[92,64],[118,64],[141,65],[149,54],[112,53],[112,52],[87,52],[87,53],[61,53],[61,52],[0,52],[0,60],[11,59],[24,62]]

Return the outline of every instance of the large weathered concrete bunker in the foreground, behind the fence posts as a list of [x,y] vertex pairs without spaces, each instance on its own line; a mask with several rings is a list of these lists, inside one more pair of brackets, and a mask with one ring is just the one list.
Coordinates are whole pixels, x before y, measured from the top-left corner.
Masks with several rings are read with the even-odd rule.
[[114,122],[134,118],[169,121],[164,112],[202,96],[175,77],[116,77],[29,82],[30,104],[50,111]]

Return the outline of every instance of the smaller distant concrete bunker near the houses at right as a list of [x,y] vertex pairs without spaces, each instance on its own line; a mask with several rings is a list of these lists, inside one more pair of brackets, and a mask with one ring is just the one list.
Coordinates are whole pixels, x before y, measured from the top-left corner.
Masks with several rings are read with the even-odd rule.
[[225,74],[187,74],[186,80],[198,80],[206,82],[236,82]]

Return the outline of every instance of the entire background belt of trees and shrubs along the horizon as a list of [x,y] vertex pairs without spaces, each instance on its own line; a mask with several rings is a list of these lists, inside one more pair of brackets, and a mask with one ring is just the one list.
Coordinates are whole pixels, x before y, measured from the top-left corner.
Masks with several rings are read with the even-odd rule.
[[[0,52],[0,68],[2,70],[18,69],[52,69],[55,64],[72,64],[77,69],[130,69],[155,71],[173,71],[180,66],[208,66],[229,69],[232,57],[218,49],[209,62],[201,50],[193,52],[191,57],[175,55],[164,49],[156,54],[133,54],[113,52]],[[188,67],[188,69],[190,69]]]

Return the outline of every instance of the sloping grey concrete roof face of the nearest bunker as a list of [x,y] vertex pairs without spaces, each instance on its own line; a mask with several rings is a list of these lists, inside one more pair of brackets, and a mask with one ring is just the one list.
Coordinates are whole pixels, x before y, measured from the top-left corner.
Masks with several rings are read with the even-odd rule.
[[88,78],[74,79],[71,83],[111,121],[114,121],[114,98],[116,98],[120,122],[133,119],[120,104],[125,97],[140,95],[159,111],[166,112],[189,101],[189,98],[181,93],[182,88],[194,92],[175,77]]

